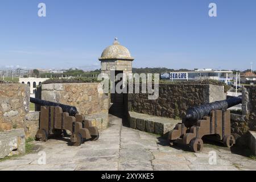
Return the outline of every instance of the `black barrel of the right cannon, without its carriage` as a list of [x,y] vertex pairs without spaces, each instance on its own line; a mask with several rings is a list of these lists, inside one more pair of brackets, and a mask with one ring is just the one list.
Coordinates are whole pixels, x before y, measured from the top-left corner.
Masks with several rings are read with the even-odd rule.
[[210,114],[212,110],[226,110],[229,107],[242,103],[241,97],[233,97],[228,100],[216,101],[209,104],[191,107],[187,110],[185,120],[187,122],[195,122]]

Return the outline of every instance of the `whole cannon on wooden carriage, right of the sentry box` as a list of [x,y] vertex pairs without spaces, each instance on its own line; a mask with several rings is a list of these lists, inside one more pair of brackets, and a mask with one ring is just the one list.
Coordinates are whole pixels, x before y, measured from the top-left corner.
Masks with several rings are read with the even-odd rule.
[[177,143],[191,147],[192,151],[203,150],[204,136],[213,136],[226,147],[232,147],[236,139],[231,135],[229,107],[242,103],[241,97],[216,101],[210,104],[190,107],[174,130],[168,136],[171,146]]

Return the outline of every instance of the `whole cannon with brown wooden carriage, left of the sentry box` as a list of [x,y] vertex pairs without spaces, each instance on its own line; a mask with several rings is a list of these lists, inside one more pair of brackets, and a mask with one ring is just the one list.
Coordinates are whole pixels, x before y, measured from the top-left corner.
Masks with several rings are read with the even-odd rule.
[[50,135],[60,135],[65,130],[71,131],[71,142],[74,146],[80,146],[84,140],[99,138],[97,127],[84,119],[84,116],[77,112],[76,107],[36,98],[30,98],[30,101],[41,105],[37,140],[46,141]]

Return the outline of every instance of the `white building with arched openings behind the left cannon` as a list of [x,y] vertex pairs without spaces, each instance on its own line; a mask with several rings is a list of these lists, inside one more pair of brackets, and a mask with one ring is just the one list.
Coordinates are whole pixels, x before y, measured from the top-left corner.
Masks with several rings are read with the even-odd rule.
[[19,83],[30,85],[30,97],[35,97],[36,86],[42,84],[42,82],[48,79],[49,78],[34,78],[34,77],[19,78]]

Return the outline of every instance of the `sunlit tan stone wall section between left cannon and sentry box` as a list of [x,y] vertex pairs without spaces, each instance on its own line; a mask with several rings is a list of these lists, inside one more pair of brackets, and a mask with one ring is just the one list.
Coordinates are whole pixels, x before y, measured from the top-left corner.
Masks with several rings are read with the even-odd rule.
[[100,83],[43,84],[39,88],[42,100],[75,106],[80,114],[98,129],[108,126],[109,95],[98,92]]

